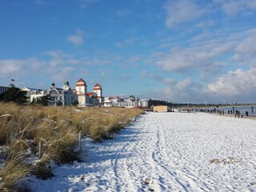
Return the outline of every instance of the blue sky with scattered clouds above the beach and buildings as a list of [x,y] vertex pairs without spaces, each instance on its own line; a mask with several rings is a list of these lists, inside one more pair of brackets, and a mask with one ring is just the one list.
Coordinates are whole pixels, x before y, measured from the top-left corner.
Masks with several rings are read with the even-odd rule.
[[0,86],[256,102],[256,0],[0,0]]

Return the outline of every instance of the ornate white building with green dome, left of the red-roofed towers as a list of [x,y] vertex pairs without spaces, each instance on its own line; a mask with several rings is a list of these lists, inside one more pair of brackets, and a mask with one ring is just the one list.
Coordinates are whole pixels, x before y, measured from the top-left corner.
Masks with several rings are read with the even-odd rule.
[[69,82],[64,82],[62,88],[56,87],[53,82],[48,90],[31,90],[30,102],[36,101],[46,95],[50,97],[49,106],[70,106],[78,100],[78,96],[71,90]]

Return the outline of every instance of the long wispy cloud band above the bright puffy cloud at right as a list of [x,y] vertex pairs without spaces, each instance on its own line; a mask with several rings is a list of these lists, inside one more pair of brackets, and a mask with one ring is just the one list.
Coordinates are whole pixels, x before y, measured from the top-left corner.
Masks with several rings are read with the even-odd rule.
[[256,30],[234,34],[202,32],[190,38],[187,47],[173,47],[165,55],[150,56],[150,62],[162,70],[207,72],[216,75],[223,66],[256,66]]

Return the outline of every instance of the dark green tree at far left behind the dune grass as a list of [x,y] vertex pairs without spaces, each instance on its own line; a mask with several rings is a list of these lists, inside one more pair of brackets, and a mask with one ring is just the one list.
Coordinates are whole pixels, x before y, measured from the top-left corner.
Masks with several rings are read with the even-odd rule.
[[22,104],[26,102],[26,91],[22,91],[14,86],[9,87],[5,92],[0,94],[0,101],[2,102],[17,102]]

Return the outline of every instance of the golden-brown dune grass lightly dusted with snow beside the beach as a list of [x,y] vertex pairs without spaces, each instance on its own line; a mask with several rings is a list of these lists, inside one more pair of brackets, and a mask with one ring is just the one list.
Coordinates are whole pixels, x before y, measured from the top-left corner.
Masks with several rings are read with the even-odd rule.
[[[0,160],[5,157],[0,170],[0,191],[14,191],[18,180],[27,174],[51,178],[51,161],[58,164],[79,161],[75,151],[79,131],[99,142],[110,138],[139,114],[142,110],[20,106],[0,102],[0,147],[7,149],[0,150]],[[28,166],[28,159],[38,155],[39,141],[43,145],[42,158]]]

